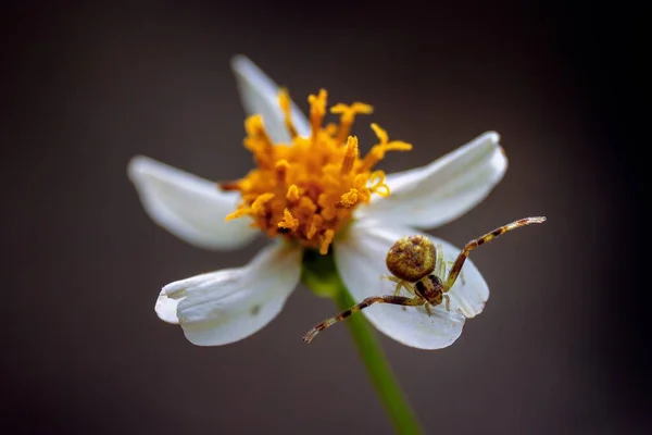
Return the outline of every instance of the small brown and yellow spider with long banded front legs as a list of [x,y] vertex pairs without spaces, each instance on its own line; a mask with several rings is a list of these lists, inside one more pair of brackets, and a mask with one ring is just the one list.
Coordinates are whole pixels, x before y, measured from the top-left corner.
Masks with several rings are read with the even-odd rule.
[[[360,303],[351,307],[342,313],[326,319],[304,336],[303,341],[310,343],[321,331],[333,326],[348,316],[364,310],[374,303],[390,303],[403,307],[424,307],[428,315],[431,314],[431,308],[444,303],[447,310],[450,310],[450,298],[447,293],[457,281],[462,272],[462,266],[468,258],[468,254],[475,248],[493,240],[496,237],[522,226],[530,224],[540,224],[546,221],[543,216],[525,217],[511,224],[500,226],[492,232],[471,240],[462,249],[455,261],[452,262],[448,275],[446,273],[447,262],[443,259],[441,247],[436,249],[432,241],[425,236],[406,236],[397,240],[385,260],[387,269],[391,275],[385,278],[397,283],[393,295],[372,296],[363,299]],[[413,297],[399,296],[401,288],[405,288]]]

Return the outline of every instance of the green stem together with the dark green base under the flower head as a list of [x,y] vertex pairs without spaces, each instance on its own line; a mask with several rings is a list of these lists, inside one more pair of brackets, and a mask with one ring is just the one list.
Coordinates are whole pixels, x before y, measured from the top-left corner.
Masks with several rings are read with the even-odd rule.
[[[305,250],[301,281],[317,296],[331,298],[340,311],[355,304],[337,272],[333,256]],[[422,434],[414,411],[397,382],[376,334],[363,314],[351,315],[344,322],[355,341],[369,380],[378,394],[397,434]]]

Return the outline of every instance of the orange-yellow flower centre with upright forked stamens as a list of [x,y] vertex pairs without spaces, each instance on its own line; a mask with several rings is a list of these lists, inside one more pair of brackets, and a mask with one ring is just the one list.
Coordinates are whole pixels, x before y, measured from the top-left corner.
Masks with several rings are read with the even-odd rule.
[[261,115],[247,119],[244,147],[253,153],[258,167],[244,178],[221,185],[242,194],[242,201],[227,221],[250,216],[269,236],[283,235],[325,254],[359,204],[368,203],[373,194],[389,195],[385,173],[372,169],[387,151],[409,151],[412,145],[389,141],[387,133],[372,124],[379,142],[361,158],[358,138],[349,133],[355,115],[369,114],[373,108],[359,102],[336,104],[330,113],[340,115],[339,124],[324,127],[326,97],[324,89],[309,97],[312,133],[301,137],[290,116],[290,98],[280,91],[279,104],[291,144],[273,144]]

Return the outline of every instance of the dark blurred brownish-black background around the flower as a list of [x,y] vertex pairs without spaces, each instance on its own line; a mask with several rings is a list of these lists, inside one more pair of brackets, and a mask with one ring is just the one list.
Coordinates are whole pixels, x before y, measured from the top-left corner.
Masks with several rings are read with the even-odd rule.
[[215,348],[153,311],[162,285],[265,243],[186,245],[126,177],[135,154],[211,179],[248,171],[237,53],[302,108],[319,87],[374,104],[415,146],[387,171],[499,132],[505,178],[432,234],[462,246],[549,217],[474,252],[492,294],[452,347],[380,337],[426,433],[650,433],[641,142],[625,97],[636,11],[522,3],[3,7],[2,433],[391,433],[347,328],[301,343],[328,300],[300,288],[261,333]]

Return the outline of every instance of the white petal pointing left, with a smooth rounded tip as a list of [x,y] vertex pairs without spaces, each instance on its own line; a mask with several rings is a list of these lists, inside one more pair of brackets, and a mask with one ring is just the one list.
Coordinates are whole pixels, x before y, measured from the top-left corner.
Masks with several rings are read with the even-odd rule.
[[258,234],[248,219],[224,221],[236,210],[239,192],[141,156],[131,159],[127,172],[150,217],[189,244],[233,249]]

